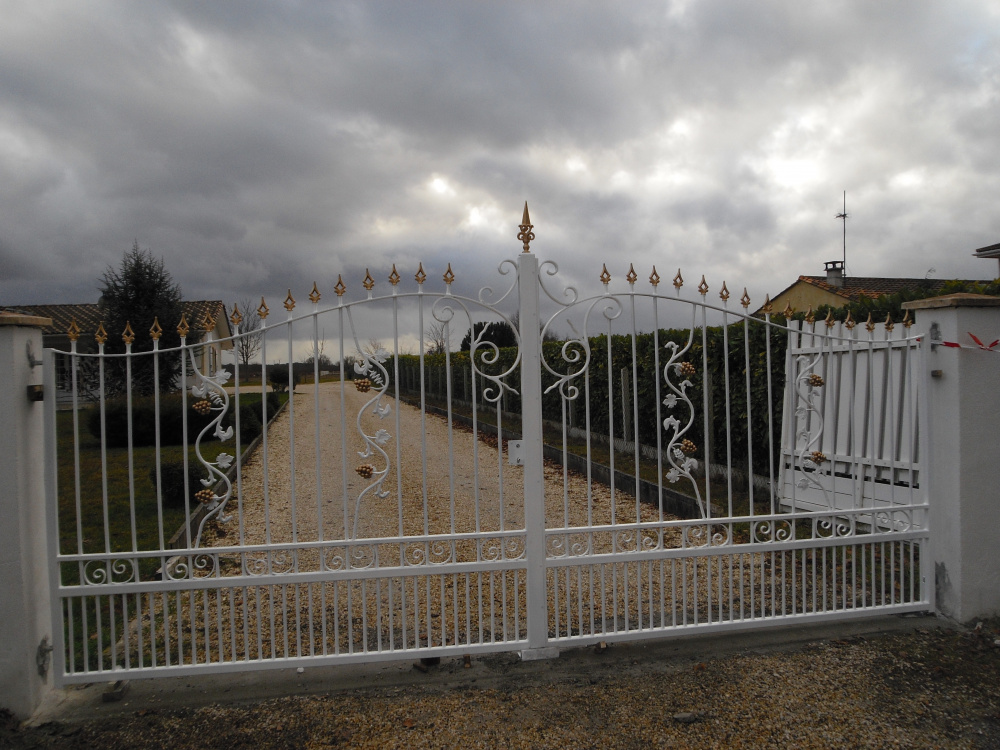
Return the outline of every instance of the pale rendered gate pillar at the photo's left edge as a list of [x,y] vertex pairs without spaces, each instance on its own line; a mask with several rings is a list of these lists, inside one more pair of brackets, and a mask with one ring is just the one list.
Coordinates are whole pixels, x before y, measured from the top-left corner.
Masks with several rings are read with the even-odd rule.
[[51,684],[37,662],[42,639],[52,642],[45,420],[37,389],[29,394],[42,384],[41,328],[51,322],[0,313],[0,707],[22,719]]

